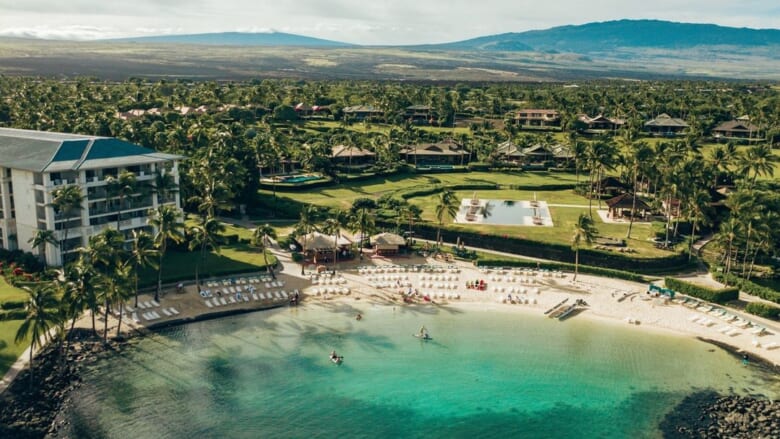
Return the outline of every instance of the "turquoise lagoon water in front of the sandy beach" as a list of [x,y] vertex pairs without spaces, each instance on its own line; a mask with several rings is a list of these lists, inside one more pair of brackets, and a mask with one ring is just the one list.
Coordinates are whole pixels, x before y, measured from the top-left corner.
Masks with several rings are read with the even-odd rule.
[[[412,337],[421,325],[433,340]],[[659,437],[702,389],[776,397],[780,383],[618,323],[331,302],[139,339],[90,366],[61,436]]]

